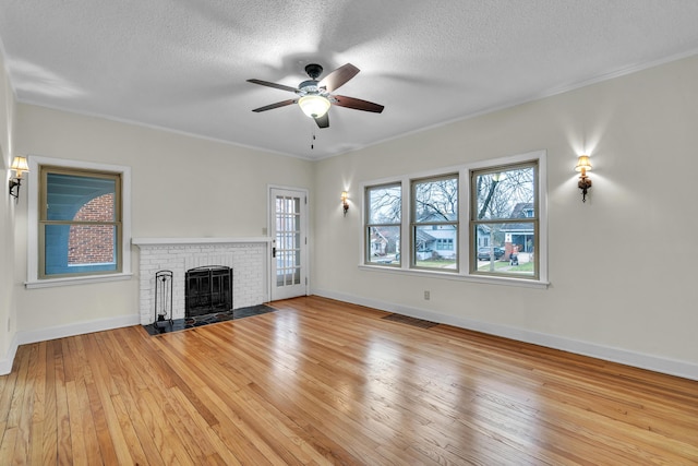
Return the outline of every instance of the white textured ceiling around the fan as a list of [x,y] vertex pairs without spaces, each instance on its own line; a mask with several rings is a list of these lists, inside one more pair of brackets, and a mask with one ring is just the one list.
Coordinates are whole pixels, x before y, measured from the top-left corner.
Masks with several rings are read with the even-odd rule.
[[[0,0],[20,101],[303,158],[696,53],[697,24],[695,0]],[[251,111],[293,94],[245,80],[313,62],[361,69],[337,93],[383,113]]]

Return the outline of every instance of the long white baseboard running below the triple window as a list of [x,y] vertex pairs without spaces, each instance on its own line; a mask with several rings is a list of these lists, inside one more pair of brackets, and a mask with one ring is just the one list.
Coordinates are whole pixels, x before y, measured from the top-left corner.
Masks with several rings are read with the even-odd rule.
[[369,299],[361,296],[333,292],[323,289],[313,289],[313,295],[339,301],[350,302],[359,306],[366,306],[387,312],[395,312],[411,318],[423,319],[431,322],[454,325],[460,328],[472,330],[490,335],[502,336],[516,339],[518,342],[531,343],[549,348],[561,349],[563,351],[575,353],[577,355],[589,356],[611,362],[618,362],[654,372],[662,372],[670,375],[682,377],[698,381],[698,365],[688,361],[662,358],[659,356],[630,351],[611,346],[598,345],[594,343],[565,338],[539,332],[531,332],[524,328],[510,327],[506,325],[480,322],[454,315],[440,314],[424,309],[395,304],[390,302]]

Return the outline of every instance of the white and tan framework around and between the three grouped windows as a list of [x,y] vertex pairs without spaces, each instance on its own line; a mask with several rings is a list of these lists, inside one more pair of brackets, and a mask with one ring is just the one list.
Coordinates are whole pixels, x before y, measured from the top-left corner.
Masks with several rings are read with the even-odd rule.
[[[537,171],[537,184],[535,184],[535,198],[538,200],[538,238],[537,238],[537,256],[538,261],[538,276],[514,276],[512,275],[498,275],[498,274],[478,274],[471,270],[471,263],[476,255],[472,253],[477,251],[477,244],[471,244],[471,241],[477,241],[477,237],[471,235],[471,171],[488,170],[488,169],[508,169],[514,166],[521,166],[527,163],[538,163]],[[426,277],[436,277],[450,280],[464,280],[474,283],[498,284],[508,286],[520,286],[529,288],[546,288],[549,286],[547,276],[547,153],[545,150],[533,151],[528,153],[521,153],[510,156],[504,156],[492,159],[483,159],[466,165],[459,165],[456,167],[444,167],[441,169],[433,169],[426,172],[399,175],[392,178],[383,178],[380,180],[364,181],[361,183],[362,192],[364,195],[363,212],[362,212],[362,248],[361,256],[359,261],[359,268],[368,272],[385,272],[396,274],[407,274]],[[459,253],[457,254],[457,270],[443,271],[438,268],[428,267],[414,267],[412,265],[413,259],[410,256],[409,261],[402,260],[398,266],[386,264],[376,264],[366,261],[366,215],[368,215],[368,199],[366,190],[376,188],[378,186],[386,184],[400,184],[402,187],[402,216],[401,216],[401,236],[400,236],[400,250],[410,251],[412,254],[412,216],[413,216],[413,192],[412,182],[422,179],[437,179],[447,177],[449,175],[457,174],[458,176],[458,232],[456,237]],[[477,259],[474,259],[477,261]]]

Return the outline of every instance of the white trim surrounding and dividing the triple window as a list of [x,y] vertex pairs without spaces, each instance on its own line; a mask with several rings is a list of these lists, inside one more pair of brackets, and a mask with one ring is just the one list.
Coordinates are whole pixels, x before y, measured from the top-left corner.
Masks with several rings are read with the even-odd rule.
[[[494,167],[498,165],[515,165],[524,162],[538,160],[538,200],[539,200],[539,278],[516,278],[510,276],[491,276],[491,275],[473,275],[470,274],[470,254],[468,248],[470,244],[470,170],[479,170],[482,168]],[[365,215],[366,215],[366,202],[362,201],[361,212],[361,259],[359,261],[359,268],[368,272],[380,272],[387,274],[405,274],[411,276],[441,278],[459,282],[472,282],[484,284],[498,284],[508,286],[519,286],[527,288],[547,288],[550,285],[547,278],[547,152],[545,150],[528,152],[525,154],[517,154],[506,157],[500,157],[494,159],[479,160],[467,165],[457,167],[444,167],[435,170],[429,170],[419,174],[410,174],[397,176],[394,178],[383,178],[380,180],[366,181],[361,184],[361,191],[365,195],[365,190],[369,187],[387,183],[401,183],[402,186],[402,228],[400,232],[400,251],[410,250],[410,181],[417,178],[436,177],[440,175],[446,175],[449,172],[459,174],[459,199],[458,199],[458,218],[459,218],[459,231],[458,231],[458,272],[440,272],[429,271],[423,268],[411,268],[410,260],[408,256],[402,258],[399,267],[383,266],[365,263],[365,235],[363,230],[365,228]]]

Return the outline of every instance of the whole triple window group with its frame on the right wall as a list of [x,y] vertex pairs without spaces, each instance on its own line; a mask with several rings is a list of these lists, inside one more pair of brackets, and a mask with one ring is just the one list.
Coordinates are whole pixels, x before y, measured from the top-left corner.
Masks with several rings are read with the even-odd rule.
[[363,265],[547,286],[545,157],[539,151],[366,183]]

